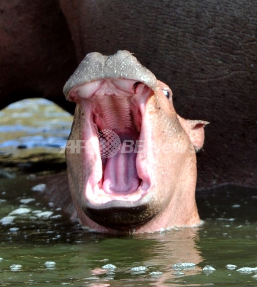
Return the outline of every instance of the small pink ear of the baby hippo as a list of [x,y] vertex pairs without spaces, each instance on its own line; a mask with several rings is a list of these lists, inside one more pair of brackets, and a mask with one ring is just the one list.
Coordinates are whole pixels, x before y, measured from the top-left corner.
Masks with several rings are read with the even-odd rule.
[[195,150],[199,150],[203,146],[204,142],[204,127],[208,125],[209,122],[201,120],[185,120],[187,125],[187,135],[194,145]]

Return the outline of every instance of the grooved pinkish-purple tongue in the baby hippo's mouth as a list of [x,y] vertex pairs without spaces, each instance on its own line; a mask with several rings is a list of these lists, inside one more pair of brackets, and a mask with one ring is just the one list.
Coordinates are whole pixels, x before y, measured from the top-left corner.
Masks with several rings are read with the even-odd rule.
[[137,154],[122,152],[123,145],[124,143],[115,156],[107,159],[102,185],[106,193],[129,194],[136,191],[140,185],[136,168]]

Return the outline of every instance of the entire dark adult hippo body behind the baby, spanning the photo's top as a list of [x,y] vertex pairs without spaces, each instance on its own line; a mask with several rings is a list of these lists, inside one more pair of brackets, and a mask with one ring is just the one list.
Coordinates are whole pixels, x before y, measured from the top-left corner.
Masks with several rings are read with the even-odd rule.
[[62,86],[77,63],[93,51],[126,49],[172,87],[179,114],[211,122],[198,187],[256,187],[256,5],[11,0],[0,13],[1,108],[42,96],[73,110]]

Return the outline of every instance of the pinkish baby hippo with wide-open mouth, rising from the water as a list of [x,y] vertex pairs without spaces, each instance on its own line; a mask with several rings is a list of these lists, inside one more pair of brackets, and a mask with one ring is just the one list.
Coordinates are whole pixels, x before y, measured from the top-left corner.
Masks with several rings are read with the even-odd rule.
[[[206,121],[177,115],[171,89],[129,51],[89,53],[64,94],[76,103],[66,161],[83,226],[127,233],[201,224],[195,152],[203,146]],[[119,138],[114,155],[100,152],[104,131]]]

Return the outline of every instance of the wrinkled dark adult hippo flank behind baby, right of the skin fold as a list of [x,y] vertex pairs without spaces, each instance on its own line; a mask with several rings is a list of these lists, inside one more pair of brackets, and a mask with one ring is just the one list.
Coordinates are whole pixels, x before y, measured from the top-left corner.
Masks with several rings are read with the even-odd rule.
[[60,0],[77,58],[129,50],[172,87],[187,118],[205,119],[198,187],[257,186],[257,5],[249,1]]

